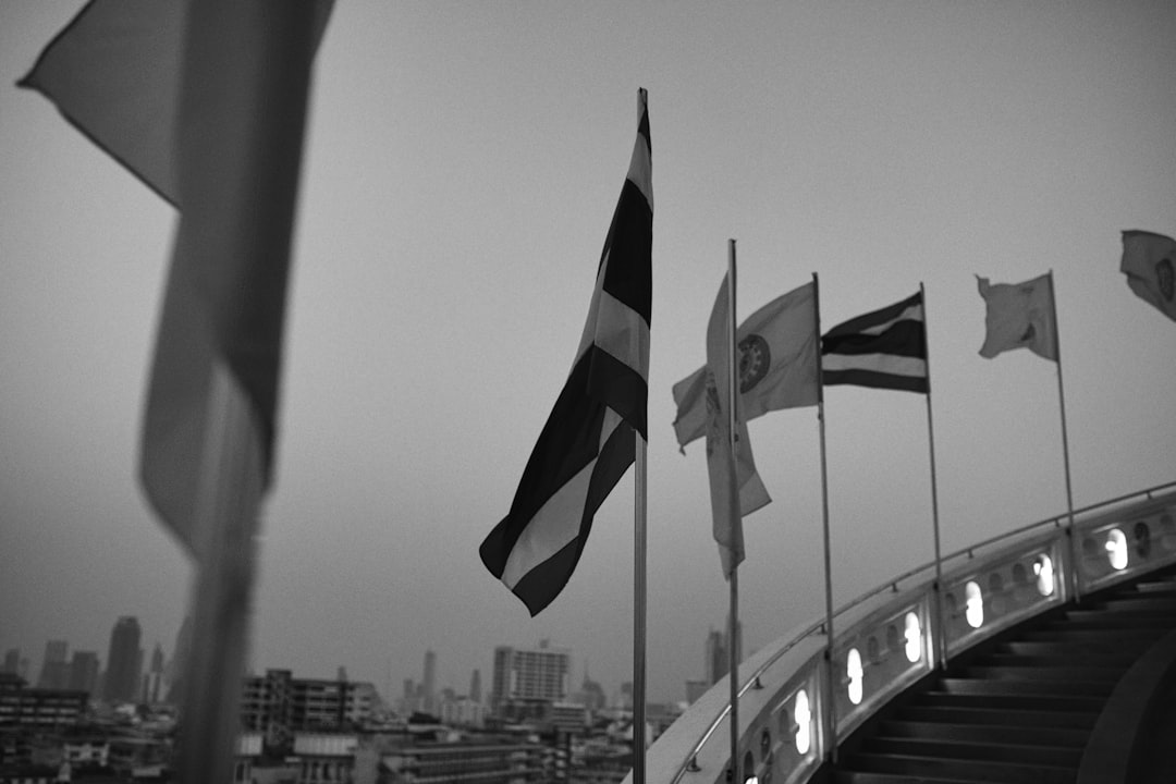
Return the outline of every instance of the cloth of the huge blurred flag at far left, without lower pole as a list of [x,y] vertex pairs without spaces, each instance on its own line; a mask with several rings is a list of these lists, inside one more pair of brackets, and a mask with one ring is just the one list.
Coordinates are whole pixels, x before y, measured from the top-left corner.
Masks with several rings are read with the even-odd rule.
[[218,470],[209,428],[234,400],[247,411],[256,481],[269,483],[310,62],[329,9],[92,0],[20,82],[182,205],[141,471],[156,511],[196,556]]

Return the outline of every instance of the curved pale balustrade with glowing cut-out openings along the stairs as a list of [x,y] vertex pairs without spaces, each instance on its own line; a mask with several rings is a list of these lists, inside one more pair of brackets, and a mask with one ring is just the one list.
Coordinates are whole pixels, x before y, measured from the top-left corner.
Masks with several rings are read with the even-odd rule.
[[[1025,618],[1176,563],[1176,482],[995,536],[843,605],[740,665],[739,776],[806,782],[866,718],[934,669]],[[830,670],[831,668],[831,677]],[[649,784],[726,783],[730,688],[716,683],[646,752]],[[632,782],[624,779],[626,784]]]

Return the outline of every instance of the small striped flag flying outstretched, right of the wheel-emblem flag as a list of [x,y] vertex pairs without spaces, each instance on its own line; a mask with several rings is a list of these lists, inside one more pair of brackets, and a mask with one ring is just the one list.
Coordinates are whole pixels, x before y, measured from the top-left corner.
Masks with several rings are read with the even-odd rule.
[[856,384],[927,393],[923,293],[837,324],[821,339],[826,387]]

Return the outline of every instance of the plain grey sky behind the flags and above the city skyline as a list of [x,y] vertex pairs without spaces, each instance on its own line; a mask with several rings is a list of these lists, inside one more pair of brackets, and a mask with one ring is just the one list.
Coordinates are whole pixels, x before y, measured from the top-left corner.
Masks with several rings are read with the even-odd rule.
[[[0,649],[105,659],[121,615],[171,655],[192,569],[138,483],[175,213],[14,83],[75,1],[0,4]],[[477,547],[570,369],[649,94],[648,696],[703,674],[728,592],[701,442],[670,387],[739,317],[820,276],[821,320],[927,296],[944,552],[1065,511],[1058,366],[977,351],[975,275],[1054,272],[1074,503],[1176,478],[1176,323],[1118,272],[1176,234],[1176,5],[342,0],[318,54],[255,671],[392,696],[488,682],[541,639],[632,678],[633,471],[532,618]],[[826,394],[837,603],[933,557],[923,396]],[[815,408],[750,423],[751,652],[823,612]]]

